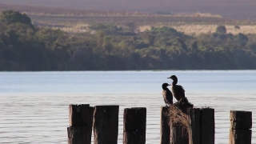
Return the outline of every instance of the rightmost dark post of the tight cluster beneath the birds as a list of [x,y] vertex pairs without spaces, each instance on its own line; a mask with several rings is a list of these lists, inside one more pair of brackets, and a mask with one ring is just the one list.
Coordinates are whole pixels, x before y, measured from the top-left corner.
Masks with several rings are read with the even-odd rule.
[[214,109],[204,108],[201,110],[201,143],[214,144],[214,139]]

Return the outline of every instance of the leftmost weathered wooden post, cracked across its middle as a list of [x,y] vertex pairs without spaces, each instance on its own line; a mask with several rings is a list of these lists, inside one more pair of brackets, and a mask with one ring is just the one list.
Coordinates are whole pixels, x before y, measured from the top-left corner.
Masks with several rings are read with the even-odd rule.
[[90,144],[93,109],[89,105],[70,105],[68,144]]

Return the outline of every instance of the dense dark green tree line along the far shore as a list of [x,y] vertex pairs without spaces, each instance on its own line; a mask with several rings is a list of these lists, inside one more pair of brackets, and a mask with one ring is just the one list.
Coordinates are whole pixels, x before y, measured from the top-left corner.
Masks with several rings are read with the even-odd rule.
[[248,70],[256,69],[256,35],[190,36],[171,27],[134,32],[132,24],[95,23],[68,34],[34,26],[26,14],[0,15],[0,70]]

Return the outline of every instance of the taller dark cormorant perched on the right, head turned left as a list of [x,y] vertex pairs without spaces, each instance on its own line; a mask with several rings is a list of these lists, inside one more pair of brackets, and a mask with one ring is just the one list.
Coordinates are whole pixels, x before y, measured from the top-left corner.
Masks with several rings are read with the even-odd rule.
[[178,78],[175,75],[172,75],[169,78],[173,80],[170,90],[171,93],[174,95],[174,98],[176,98],[178,102],[187,102],[187,99],[185,97],[185,90],[182,86],[177,85]]

